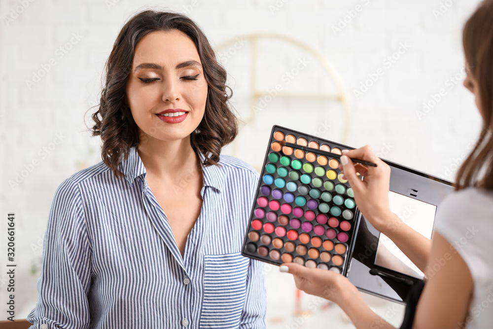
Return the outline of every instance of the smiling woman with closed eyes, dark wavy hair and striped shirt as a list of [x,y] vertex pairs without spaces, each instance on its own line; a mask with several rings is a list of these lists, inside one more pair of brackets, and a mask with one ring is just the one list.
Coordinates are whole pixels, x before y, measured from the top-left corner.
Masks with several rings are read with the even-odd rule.
[[146,10],[106,64],[103,161],[57,189],[35,328],[264,328],[262,269],[240,254],[257,172],[226,72],[186,16]]

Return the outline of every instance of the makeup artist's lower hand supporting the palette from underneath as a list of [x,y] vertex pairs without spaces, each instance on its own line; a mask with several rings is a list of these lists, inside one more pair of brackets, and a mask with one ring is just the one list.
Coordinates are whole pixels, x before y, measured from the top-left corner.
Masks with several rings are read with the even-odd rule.
[[333,271],[308,268],[297,263],[284,263],[279,270],[293,274],[294,283],[299,290],[336,304],[344,304],[355,294],[361,295],[348,278]]

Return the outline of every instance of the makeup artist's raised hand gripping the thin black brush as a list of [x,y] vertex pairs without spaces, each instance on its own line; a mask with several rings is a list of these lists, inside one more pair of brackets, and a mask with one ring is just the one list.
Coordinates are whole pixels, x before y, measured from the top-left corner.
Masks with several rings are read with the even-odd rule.
[[[370,161],[377,167],[353,163],[350,158]],[[385,233],[395,225],[396,215],[388,206],[388,189],[390,185],[390,167],[375,155],[370,146],[352,150],[343,150],[341,166],[345,178],[354,191],[354,201],[359,211],[376,229]],[[356,173],[364,179],[361,181]]]

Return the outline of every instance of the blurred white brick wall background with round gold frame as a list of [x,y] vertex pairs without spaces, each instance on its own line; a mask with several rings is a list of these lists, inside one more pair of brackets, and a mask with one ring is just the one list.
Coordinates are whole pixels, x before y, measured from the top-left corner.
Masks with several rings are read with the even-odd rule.
[[[274,124],[454,180],[481,117],[465,77],[461,30],[478,0],[1,0],[0,320],[7,213],[16,214],[16,318],[37,297],[56,188],[101,161],[91,137],[106,59],[143,8],[189,15],[226,68],[241,119],[225,154],[262,165]],[[143,7],[142,5],[145,5]],[[353,328],[342,311],[265,269],[267,328]],[[395,326],[403,306],[365,295]]]

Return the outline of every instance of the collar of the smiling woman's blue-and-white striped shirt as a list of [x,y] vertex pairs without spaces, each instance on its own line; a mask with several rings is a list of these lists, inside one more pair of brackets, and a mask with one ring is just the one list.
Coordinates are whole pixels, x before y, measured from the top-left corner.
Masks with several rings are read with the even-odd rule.
[[[208,167],[204,167],[202,163],[205,160],[204,154],[200,151],[199,159],[202,166],[202,173],[204,178],[204,186],[210,186],[218,190],[219,192],[224,188],[224,170],[221,167],[217,167],[215,165],[211,165]],[[130,186],[133,185],[135,179],[141,175],[147,175],[147,171],[145,170],[144,164],[142,163],[141,157],[139,156],[139,152],[137,151],[137,146],[132,146],[129,149],[127,160],[122,160],[122,172],[126,176],[127,182]]]

